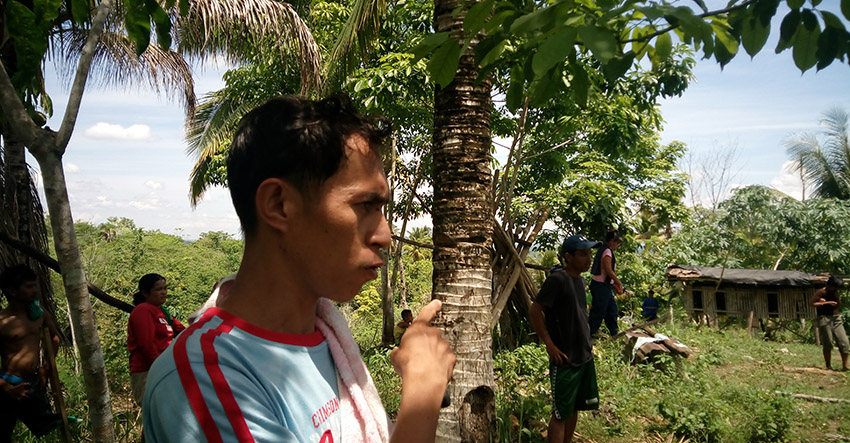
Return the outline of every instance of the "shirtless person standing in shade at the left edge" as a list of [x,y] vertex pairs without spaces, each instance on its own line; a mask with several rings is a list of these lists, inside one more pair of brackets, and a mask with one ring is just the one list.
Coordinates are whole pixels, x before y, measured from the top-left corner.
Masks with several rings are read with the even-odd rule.
[[53,349],[59,348],[56,325],[38,304],[38,277],[26,265],[0,274],[8,306],[0,311],[0,442],[12,441],[18,420],[36,437],[62,424],[47,399],[50,363],[40,363],[42,329],[47,326]]

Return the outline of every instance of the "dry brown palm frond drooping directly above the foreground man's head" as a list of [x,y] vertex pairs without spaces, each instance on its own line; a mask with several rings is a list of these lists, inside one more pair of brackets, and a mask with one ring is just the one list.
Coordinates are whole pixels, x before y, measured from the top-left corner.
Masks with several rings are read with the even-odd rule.
[[295,55],[301,67],[301,92],[321,84],[319,47],[296,9],[275,0],[196,0],[174,27],[180,51],[204,59],[224,56],[233,64],[274,48],[286,59]]

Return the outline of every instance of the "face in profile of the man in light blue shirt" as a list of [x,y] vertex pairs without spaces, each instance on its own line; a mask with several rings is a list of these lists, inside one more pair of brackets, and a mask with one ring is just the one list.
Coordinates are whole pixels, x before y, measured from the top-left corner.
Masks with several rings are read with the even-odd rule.
[[389,186],[380,158],[360,135],[347,139],[346,157],[293,217],[287,241],[299,258],[299,285],[336,301],[351,300],[378,277],[380,250],[391,241],[383,214]]

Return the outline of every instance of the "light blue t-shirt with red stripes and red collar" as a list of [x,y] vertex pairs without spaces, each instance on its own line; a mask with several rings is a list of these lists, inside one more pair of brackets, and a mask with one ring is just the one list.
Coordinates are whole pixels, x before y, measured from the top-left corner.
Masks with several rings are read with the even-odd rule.
[[339,387],[327,342],[271,332],[218,308],[148,373],[152,442],[340,442]]

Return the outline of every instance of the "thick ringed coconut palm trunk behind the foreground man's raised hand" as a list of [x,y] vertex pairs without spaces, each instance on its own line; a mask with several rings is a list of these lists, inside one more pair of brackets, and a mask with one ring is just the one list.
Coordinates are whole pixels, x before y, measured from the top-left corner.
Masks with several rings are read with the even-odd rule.
[[[459,6],[456,0],[434,2],[436,32],[461,32],[465,13],[452,14]],[[454,81],[438,86],[434,97],[433,297],[443,301],[436,323],[457,354],[452,403],[440,414],[437,438],[452,442],[495,438],[490,81],[475,81],[474,45],[461,57]]]

